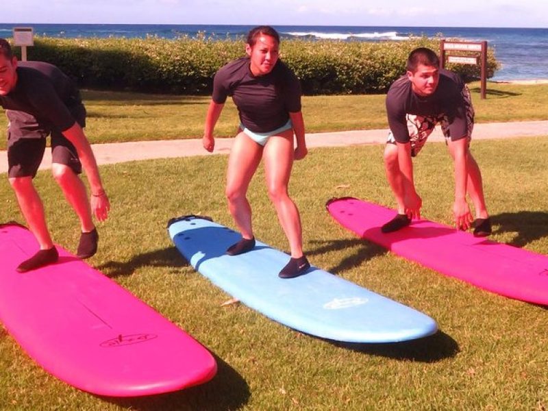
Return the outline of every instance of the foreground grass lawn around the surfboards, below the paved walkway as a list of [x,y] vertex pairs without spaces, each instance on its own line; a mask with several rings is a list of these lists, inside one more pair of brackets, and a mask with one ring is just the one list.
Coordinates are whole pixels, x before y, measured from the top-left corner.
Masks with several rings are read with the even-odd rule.
[[[95,397],[42,371],[0,329],[0,409],[545,410],[546,308],[397,258],[325,212],[327,199],[346,195],[393,205],[382,149],[312,149],[295,164],[290,189],[304,248],[316,266],[432,316],[438,334],[345,345],[300,334],[243,305],[221,306],[230,296],[184,262],[165,226],[173,216],[201,213],[234,227],[223,195],[227,157],[101,166],[112,214],[99,225],[100,249],[90,264],[195,336],[216,356],[219,373],[168,395]],[[546,136],[475,141],[472,150],[483,171],[493,239],[548,254]],[[415,164],[423,216],[450,224],[453,174],[445,145],[429,143]],[[48,172],[38,174],[36,186],[54,240],[74,251],[78,225],[59,188]],[[249,199],[256,236],[287,249],[262,171]],[[0,221],[21,221],[6,179],[0,179],[0,201]]]

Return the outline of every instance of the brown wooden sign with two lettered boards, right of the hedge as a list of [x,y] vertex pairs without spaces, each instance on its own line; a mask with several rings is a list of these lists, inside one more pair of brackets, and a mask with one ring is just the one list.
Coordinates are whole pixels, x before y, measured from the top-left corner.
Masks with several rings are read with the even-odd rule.
[[[464,51],[466,55],[462,55],[462,53],[455,55],[453,51]],[[479,64],[481,94],[482,99],[485,99],[487,91],[487,42],[447,41],[442,39],[440,40],[440,64],[442,69],[445,67],[446,58],[449,63],[473,64],[475,66]]]

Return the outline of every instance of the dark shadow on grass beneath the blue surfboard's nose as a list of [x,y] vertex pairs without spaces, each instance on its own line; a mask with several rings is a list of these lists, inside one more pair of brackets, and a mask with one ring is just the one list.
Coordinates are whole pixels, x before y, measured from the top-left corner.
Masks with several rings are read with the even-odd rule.
[[357,344],[337,341],[331,343],[337,347],[360,351],[372,356],[420,362],[437,362],[446,358],[453,358],[460,351],[458,343],[451,336],[441,331],[432,336],[401,343]]

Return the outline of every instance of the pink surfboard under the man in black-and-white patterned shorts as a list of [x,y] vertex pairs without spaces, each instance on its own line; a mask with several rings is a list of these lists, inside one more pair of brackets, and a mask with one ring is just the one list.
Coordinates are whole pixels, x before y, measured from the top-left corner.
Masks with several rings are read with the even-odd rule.
[[427,220],[383,234],[380,227],[396,211],[351,197],[326,207],[340,225],[398,256],[505,297],[548,305],[547,256]]

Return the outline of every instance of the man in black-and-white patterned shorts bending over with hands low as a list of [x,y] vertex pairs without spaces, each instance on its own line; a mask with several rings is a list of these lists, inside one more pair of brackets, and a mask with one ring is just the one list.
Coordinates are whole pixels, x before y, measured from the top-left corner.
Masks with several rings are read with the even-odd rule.
[[[491,225],[482,175],[469,151],[474,121],[470,92],[458,75],[439,69],[439,64],[434,51],[415,49],[408,58],[407,74],[388,90],[390,134],[384,164],[398,214],[382,227],[382,232],[396,231],[409,225],[412,218],[420,218],[422,200],[414,186],[412,157],[419,153],[436,123],[440,123],[455,164],[455,225],[458,229],[474,227],[475,236],[488,236]],[[475,207],[474,222],[466,192]]]

